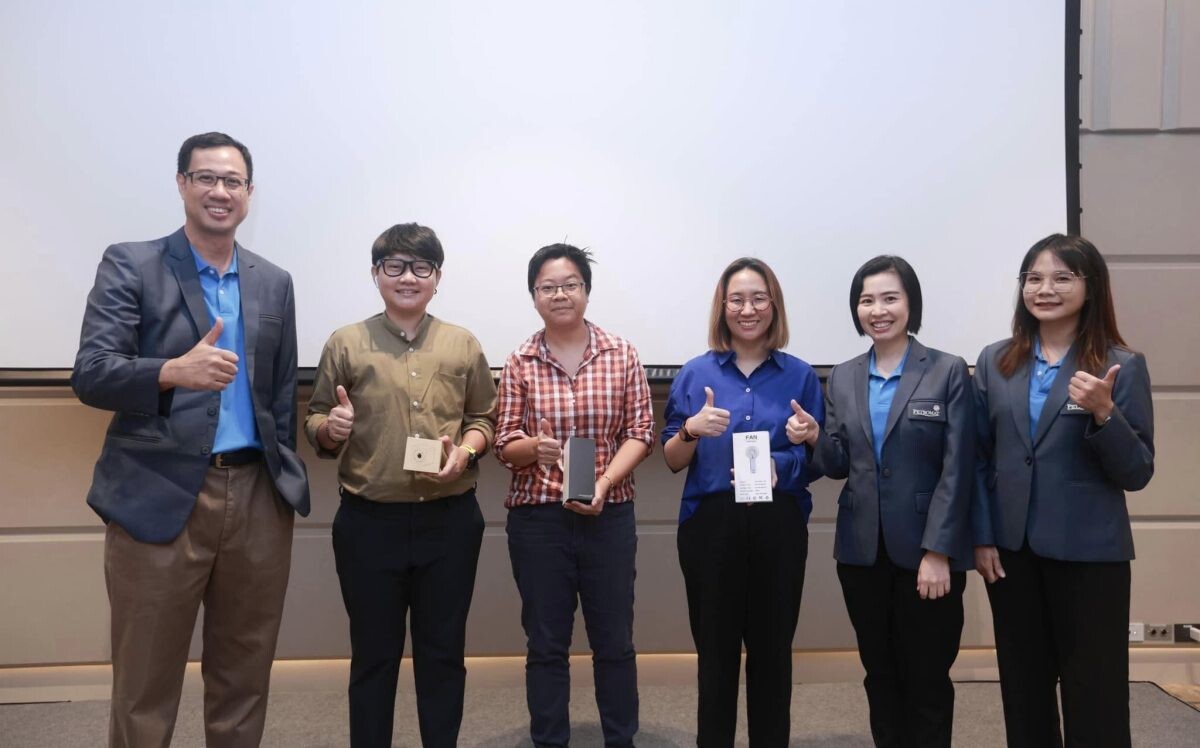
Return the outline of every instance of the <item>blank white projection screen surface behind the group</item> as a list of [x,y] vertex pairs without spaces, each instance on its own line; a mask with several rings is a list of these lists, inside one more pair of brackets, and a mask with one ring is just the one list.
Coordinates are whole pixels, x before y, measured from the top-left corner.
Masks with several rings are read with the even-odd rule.
[[5,2],[0,369],[71,366],[103,249],[182,223],[175,155],[210,130],[253,154],[238,235],[295,280],[301,366],[382,311],[370,247],[408,221],[446,250],[430,311],[493,366],[563,240],[647,365],[706,348],[745,255],[815,365],[866,347],[848,287],[880,253],[920,276],[922,340],[973,360],[1067,227],[1063,37],[1046,0]]

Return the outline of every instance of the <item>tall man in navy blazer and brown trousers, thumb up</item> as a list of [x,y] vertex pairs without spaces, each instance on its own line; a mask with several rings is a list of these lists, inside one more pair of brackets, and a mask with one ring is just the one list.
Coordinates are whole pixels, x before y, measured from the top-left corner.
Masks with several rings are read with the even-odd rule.
[[110,746],[170,742],[202,602],[208,744],[262,738],[308,484],[292,279],[234,240],[252,179],[238,140],[185,140],[184,227],[108,247],[88,297],[71,384],[114,411],[88,493],[108,526]]

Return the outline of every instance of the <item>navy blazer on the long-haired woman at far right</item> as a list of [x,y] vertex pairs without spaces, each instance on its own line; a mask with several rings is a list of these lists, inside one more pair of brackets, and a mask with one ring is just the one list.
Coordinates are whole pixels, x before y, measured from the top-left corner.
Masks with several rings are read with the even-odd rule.
[[974,544],[1015,551],[1028,539],[1030,549],[1045,558],[1132,559],[1124,492],[1144,487],[1154,474],[1154,412],[1145,357],[1109,348],[1105,371],[1114,364],[1121,370],[1112,388],[1112,418],[1097,426],[1091,413],[1067,397],[1078,369],[1072,346],[1031,439],[1032,355],[1006,379],[996,363],[1008,345],[1002,340],[988,346],[976,364]]

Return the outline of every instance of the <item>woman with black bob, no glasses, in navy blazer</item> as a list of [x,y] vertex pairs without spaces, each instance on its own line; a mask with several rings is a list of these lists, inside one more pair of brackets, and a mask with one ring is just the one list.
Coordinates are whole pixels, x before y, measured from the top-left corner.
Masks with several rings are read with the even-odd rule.
[[793,405],[787,436],[846,478],[834,557],[854,624],[876,746],[949,746],[949,669],[973,563],[974,408],[966,361],[920,345],[917,274],[870,259],[850,312],[871,349],[833,369],[826,427]]

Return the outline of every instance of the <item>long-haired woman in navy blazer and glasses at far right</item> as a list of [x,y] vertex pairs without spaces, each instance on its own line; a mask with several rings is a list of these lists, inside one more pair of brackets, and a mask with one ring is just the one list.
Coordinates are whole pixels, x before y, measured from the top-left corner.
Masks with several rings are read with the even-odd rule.
[[1129,746],[1126,491],[1154,472],[1146,359],[1117,331],[1109,271],[1080,237],[1021,262],[1013,336],[979,354],[971,514],[1009,746]]

